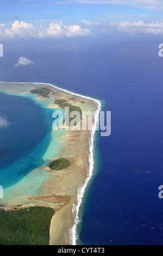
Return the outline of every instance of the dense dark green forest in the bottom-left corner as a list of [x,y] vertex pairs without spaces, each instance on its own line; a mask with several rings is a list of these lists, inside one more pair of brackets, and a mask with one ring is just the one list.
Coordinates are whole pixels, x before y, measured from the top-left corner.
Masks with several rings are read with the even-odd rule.
[[54,210],[34,206],[0,210],[0,245],[49,245]]

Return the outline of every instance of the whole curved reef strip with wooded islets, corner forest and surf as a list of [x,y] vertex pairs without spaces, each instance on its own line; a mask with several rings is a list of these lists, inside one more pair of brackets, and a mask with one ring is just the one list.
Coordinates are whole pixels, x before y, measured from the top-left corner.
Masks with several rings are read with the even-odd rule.
[[[51,118],[51,141],[42,165],[5,188],[0,200],[1,245],[76,245],[79,209],[93,172],[93,141],[101,103],[44,83],[2,82],[0,92],[28,97],[51,113],[69,107],[70,113],[80,113],[80,120],[85,118],[83,111],[96,112],[92,131],[54,131]],[[30,161],[33,164],[34,157]],[[21,168],[20,163],[16,168]]]

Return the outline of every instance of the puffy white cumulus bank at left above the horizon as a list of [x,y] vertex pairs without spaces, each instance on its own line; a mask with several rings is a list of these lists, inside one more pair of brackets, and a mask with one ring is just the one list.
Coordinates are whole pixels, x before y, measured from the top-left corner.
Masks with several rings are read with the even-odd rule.
[[90,35],[88,28],[79,25],[66,25],[62,21],[52,21],[47,26],[34,26],[32,23],[15,21],[8,28],[5,24],[0,24],[1,38],[57,38],[62,36],[84,36]]

